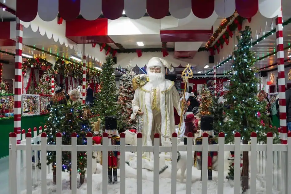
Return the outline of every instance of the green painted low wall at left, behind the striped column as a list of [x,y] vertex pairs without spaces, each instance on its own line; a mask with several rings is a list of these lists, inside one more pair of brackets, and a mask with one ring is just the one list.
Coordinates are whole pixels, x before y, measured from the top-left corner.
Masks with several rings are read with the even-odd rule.
[[[25,129],[27,132],[28,128],[33,130],[33,127],[44,126],[46,118],[48,115],[37,115],[37,116],[27,116],[21,118],[21,129]],[[0,120],[0,158],[9,155],[9,133],[14,130],[14,118]],[[32,133],[33,136],[33,133]]]

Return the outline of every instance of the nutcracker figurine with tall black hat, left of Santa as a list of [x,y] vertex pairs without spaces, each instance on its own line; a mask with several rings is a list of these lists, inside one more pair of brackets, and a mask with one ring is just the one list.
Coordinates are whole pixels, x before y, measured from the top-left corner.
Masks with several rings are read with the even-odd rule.
[[[108,133],[109,145],[120,145],[120,137],[117,132],[117,119],[115,116],[105,117],[105,132]],[[120,152],[108,151],[108,183],[117,183],[117,157]],[[112,173],[113,172],[113,173]],[[113,174],[113,180],[112,180]]]

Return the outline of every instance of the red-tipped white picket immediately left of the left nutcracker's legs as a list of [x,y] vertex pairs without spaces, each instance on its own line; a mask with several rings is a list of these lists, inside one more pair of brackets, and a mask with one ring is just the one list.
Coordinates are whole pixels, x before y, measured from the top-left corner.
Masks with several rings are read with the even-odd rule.
[[102,137],[102,194],[107,194],[108,176],[108,134],[103,133]]

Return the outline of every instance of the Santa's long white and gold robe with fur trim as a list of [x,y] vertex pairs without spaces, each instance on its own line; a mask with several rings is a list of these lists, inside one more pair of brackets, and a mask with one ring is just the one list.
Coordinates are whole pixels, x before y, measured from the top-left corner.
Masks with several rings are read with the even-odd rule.
[[[178,114],[181,113],[180,95],[174,86],[174,82],[166,79],[157,87],[153,86],[151,82],[138,87],[132,100],[133,113],[131,119],[135,119],[139,109],[143,112],[143,145],[152,145],[150,136],[152,130],[154,130],[152,129],[153,111],[159,109],[161,115],[160,131],[164,136],[170,138],[172,138],[172,133],[175,132],[174,107]],[[160,100],[157,98],[160,98]],[[161,143],[162,145],[171,144],[170,140],[163,136],[161,137]]]

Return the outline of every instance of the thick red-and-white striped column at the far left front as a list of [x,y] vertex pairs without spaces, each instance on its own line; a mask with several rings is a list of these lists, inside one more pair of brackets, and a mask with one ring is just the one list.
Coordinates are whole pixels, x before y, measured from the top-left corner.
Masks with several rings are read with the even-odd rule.
[[21,139],[21,95],[22,95],[22,37],[23,24],[16,18],[15,43],[15,83],[14,83],[14,133],[17,134],[17,143]]

